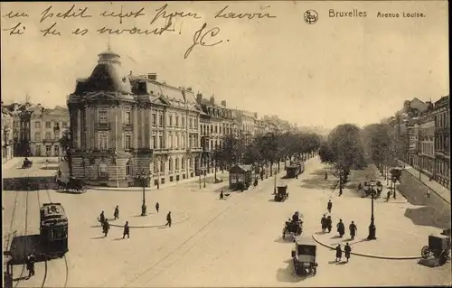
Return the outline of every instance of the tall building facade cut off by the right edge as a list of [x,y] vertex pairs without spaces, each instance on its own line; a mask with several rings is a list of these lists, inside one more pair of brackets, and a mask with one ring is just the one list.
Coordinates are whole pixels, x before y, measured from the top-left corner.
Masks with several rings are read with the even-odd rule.
[[450,105],[449,96],[440,98],[433,108],[435,117],[436,181],[450,188]]

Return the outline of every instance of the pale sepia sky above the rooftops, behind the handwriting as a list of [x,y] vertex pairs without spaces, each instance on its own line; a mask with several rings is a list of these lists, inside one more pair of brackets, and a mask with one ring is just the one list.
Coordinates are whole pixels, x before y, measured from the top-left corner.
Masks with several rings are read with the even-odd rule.
[[[121,55],[124,69],[135,75],[157,73],[169,85],[191,87],[207,98],[214,95],[228,107],[277,115],[297,125],[371,124],[394,115],[406,99],[435,101],[449,93],[446,1],[202,1],[166,7],[165,2],[78,2],[72,11],[87,7],[83,15],[91,17],[57,17],[72,5],[1,3],[4,102],[21,102],[29,95],[33,103],[64,106],[76,79],[89,77],[108,43]],[[99,15],[119,14],[121,6],[123,14],[143,8],[139,14],[144,15],[125,17],[122,23]],[[273,17],[215,17],[224,7],[219,15]],[[315,10],[316,23],[305,22],[307,10]],[[366,17],[330,17],[332,11],[365,12]],[[188,15],[172,17],[173,31],[161,35],[97,32],[104,26],[162,28],[164,12]],[[400,17],[377,17],[379,12]],[[28,17],[13,17],[16,13]],[[44,36],[42,31],[53,23],[61,35]],[[197,44],[185,59],[204,23],[199,34],[206,35],[205,45],[222,42]],[[8,29],[17,24],[24,33],[11,35]],[[77,28],[88,32],[75,35]]]

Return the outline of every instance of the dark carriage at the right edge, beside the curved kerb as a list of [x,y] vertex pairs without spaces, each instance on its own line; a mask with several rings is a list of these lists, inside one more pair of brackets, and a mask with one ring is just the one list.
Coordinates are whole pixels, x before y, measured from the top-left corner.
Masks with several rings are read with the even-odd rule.
[[428,259],[430,255],[438,259],[439,265],[445,265],[450,260],[450,230],[444,230],[441,235],[429,235],[428,246],[423,246],[420,255],[424,259]]

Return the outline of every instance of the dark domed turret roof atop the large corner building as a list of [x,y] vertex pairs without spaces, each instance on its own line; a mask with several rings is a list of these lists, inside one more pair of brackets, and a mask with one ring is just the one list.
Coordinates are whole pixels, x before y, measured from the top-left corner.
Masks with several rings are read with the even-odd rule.
[[86,89],[91,92],[132,94],[130,80],[121,66],[120,56],[117,53],[109,49],[99,53],[98,65],[89,76]]

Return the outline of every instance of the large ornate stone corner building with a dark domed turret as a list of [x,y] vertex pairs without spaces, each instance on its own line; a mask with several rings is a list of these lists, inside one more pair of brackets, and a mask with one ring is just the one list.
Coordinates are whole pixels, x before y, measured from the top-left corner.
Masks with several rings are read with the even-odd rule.
[[155,73],[127,73],[108,49],[91,76],[77,80],[67,104],[73,177],[89,185],[141,186],[137,174],[144,170],[158,187],[198,175],[203,112],[191,88],[160,83]]

